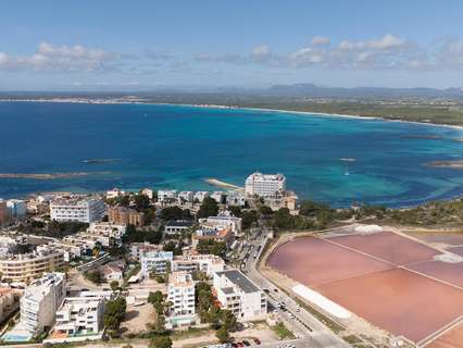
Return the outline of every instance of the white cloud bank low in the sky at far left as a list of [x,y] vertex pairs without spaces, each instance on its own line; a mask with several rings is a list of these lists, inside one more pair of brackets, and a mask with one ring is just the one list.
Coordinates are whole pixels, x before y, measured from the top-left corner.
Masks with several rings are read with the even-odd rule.
[[118,54],[101,49],[77,46],[38,45],[32,55],[0,52],[0,70],[4,71],[96,71],[109,67]]

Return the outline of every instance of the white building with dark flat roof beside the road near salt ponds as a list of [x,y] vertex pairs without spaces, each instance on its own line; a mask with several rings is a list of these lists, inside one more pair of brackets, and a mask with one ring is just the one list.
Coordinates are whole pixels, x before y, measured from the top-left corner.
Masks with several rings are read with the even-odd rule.
[[238,321],[265,320],[265,294],[240,271],[214,273],[214,289],[221,307],[230,310]]

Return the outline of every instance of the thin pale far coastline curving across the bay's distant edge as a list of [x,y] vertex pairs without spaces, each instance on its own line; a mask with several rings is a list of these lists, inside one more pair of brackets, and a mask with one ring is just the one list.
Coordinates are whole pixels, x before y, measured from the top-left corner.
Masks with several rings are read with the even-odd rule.
[[266,109],[266,108],[250,108],[250,107],[239,107],[239,105],[224,105],[224,104],[191,104],[191,103],[171,103],[171,102],[150,102],[142,100],[99,100],[99,99],[60,99],[60,98],[50,98],[50,99],[0,99],[1,102],[49,102],[49,103],[83,103],[83,104],[143,104],[143,105],[172,105],[172,107],[190,107],[190,108],[200,108],[200,109],[217,109],[217,110],[249,110],[249,111],[264,111],[264,112],[275,112],[275,113],[289,113],[298,114],[305,116],[328,116],[328,117],[339,117],[339,119],[356,119],[356,120],[367,120],[367,121],[384,121],[384,122],[398,122],[398,123],[410,123],[416,125],[427,125],[435,127],[446,127],[456,129],[463,133],[463,126],[445,124],[445,123],[435,123],[435,122],[420,122],[420,121],[406,121],[406,120],[392,120],[383,116],[362,116],[359,114],[340,114],[340,113],[328,113],[328,112],[312,112],[312,111],[300,111],[300,110],[286,110],[286,109]]

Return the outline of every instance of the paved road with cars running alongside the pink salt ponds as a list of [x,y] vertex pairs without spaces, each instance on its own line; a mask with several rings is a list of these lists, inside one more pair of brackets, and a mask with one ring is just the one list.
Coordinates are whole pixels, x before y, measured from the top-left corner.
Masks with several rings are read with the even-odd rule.
[[[286,293],[277,289],[273,283],[262,276],[256,270],[263,247],[267,240],[268,231],[265,228],[253,229],[247,241],[247,247],[241,251],[241,269],[261,288],[268,289],[268,308],[273,310],[278,302],[284,302],[286,311],[278,310],[285,325],[291,330],[299,338],[293,344],[297,347],[315,348],[347,348],[350,347],[345,340],[334,334],[328,327],[322,324],[315,316],[309,313]],[[297,343],[297,344],[296,344]],[[276,344],[268,345],[275,347]],[[278,345],[281,346],[281,345]],[[284,345],[281,346],[284,347]]]

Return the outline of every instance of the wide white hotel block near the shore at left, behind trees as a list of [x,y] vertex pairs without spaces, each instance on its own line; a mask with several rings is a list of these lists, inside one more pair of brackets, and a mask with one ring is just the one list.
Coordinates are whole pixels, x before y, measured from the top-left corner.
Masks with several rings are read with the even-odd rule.
[[107,206],[99,199],[61,199],[50,204],[50,217],[59,222],[95,222],[100,221]]

